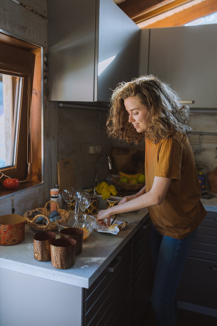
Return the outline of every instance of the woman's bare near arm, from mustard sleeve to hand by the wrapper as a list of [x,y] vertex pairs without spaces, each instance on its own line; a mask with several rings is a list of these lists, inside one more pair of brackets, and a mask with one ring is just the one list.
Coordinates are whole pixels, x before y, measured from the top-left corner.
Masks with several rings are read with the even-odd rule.
[[[106,226],[103,220],[107,218],[108,225],[110,225],[110,216],[113,214],[127,213],[150,206],[160,205],[167,194],[171,180],[170,178],[155,177],[150,191],[146,193],[142,193],[142,191],[139,197],[100,211],[97,215],[97,221]],[[142,189],[144,189],[144,187]]]

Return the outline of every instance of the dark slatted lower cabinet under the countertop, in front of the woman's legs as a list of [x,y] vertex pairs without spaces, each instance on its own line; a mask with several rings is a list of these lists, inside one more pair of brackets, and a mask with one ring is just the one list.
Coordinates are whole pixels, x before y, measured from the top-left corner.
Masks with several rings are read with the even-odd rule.
[[83,326],[139,324],[152,277],[150,220],[135,233],[89,289],[83,289]]

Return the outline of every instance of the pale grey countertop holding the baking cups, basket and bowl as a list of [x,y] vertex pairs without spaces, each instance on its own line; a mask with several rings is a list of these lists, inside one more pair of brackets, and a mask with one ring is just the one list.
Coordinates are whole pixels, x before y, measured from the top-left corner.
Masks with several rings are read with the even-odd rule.
[[[75,265],[70,269],[56,269],[52,266],[51,261],[34,259],[33,238],[34,234],[39,231],[25,225],[23,242],[10,246],[0,245],[0,268],[89,288],[145,222],[147,213],[147,209],[142,209],[136,215],[119,215],[117,220],[129,221],[130,224],[120,230],[117,235],[93,230],[90,236],[84,240],[82,253],[75,256]],[[59,231],[55,230],[54,232],[58,238]]]

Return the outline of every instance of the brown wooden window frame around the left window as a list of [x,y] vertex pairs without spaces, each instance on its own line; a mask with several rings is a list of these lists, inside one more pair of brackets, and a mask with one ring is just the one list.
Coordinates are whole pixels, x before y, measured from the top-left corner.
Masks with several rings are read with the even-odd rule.
[[[41,47],[0,33],[0,73],[23,78],[15,166],[1,168],[0,171],[11,178],[29,181],[21,184],[16,190],[6,190],[1,185],[5,179],[3,177],[0,179],[1,195],[42,182],[42,53]],[[29,142],[28,162],[31,162],[33,156],[33,163],[32,172],[27,176],[28,76],[30,76],[33,152],[31,153]]]

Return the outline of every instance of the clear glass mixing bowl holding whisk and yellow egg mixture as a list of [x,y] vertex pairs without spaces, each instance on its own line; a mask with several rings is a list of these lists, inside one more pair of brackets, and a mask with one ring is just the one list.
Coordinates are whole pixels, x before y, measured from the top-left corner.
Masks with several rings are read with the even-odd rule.
[[[56,220],[55,223],[59,232],[62,229],[72,228],[73,224],[75,223],[75,214],[71,213],[68,222],[64,224],[59,220]],[[80,229],[84,230],[83,240],[85,240],[92,232],[94,225],[96,224],[96,218],[92,215],[78,214],[78,224]]]

